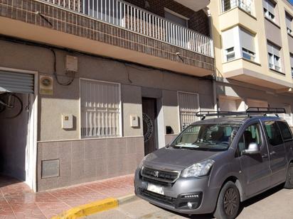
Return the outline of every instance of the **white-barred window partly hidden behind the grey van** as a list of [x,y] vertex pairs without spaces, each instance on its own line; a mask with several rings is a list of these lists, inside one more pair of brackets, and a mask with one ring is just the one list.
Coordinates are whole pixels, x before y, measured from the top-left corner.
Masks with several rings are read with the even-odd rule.
[[198,94],[178,92],[179,116],[181,130],[198,120]]

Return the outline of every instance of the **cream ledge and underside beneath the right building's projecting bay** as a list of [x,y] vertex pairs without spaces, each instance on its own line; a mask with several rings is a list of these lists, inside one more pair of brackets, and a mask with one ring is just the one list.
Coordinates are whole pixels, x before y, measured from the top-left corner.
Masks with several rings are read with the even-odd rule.
[[231,72],[225,72],[223,75],[226,79],[234,79],[240,82],[255,84],[257,86],[265,86],[275,90],[289,90],[292,86],[290,82],[285,82],[274,77],[254,72],[250,69],[235,69]]

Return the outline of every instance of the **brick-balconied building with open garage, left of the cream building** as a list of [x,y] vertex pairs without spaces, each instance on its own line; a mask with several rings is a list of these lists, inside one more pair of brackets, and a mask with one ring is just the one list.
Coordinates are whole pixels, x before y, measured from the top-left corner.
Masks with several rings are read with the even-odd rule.
[[0,1],[0,92],[23,102],[0,113],[0,172],[36,191],[132,174],[213,110],[209,1],[189,2]]

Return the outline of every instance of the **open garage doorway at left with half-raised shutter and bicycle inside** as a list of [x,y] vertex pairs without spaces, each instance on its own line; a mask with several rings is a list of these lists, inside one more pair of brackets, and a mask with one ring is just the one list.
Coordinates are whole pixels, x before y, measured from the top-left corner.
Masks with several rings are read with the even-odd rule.
[[24,181],[33,190],[36,190],[36,75],[0,67],[0,174]]

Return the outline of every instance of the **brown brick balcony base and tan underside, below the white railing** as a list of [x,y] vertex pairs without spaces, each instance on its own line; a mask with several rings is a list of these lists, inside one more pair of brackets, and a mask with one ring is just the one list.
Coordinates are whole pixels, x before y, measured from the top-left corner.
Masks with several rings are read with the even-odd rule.
[[7,11],[1,13],[0,26],[5,28],[0,28],[0,34],[198,77],[213,74],[213,57],[39,1],[26,4],[23,10],[0,3],[1,10]]

